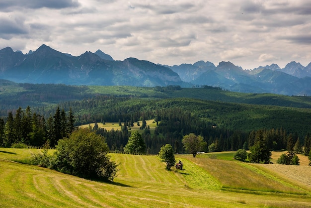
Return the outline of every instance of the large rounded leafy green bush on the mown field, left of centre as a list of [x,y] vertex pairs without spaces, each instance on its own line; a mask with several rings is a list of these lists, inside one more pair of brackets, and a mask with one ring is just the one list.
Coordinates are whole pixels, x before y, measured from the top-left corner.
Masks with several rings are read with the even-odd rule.
[[58,141],[53,155],[44,149],[43,154],[33,156],[31,163],[82,178],[113,181],[117,165],[110,160],[108,150],[102,136],[90,129],[79,128],[68,138]]

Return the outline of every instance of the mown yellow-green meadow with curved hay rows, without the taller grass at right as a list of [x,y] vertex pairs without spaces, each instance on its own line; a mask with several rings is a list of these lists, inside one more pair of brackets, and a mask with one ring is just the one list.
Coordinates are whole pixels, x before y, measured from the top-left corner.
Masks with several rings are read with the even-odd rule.
[[[192,162],[191,155],[176,155],[185,164],[186,170],[183,172],[173,168],[172,171],[165,170],[165,163],[157,156],[111,156],[112,160],[121,162],[120,171],[113,183],[89,181],[37,166],[0,160],[0,207],[299,208],[311,205],[310,195],[255,195],[249,192],[213,190],[204,184],[195,185],[206,182],[204,175],[211,176],[212,179],[214,177],[214,180],[216,177]],[[129,166],[135,163],[140,174]],[[139,163],[144,163],[145,167]],[[238,166],[236,162],[232,163],[233,167]]]

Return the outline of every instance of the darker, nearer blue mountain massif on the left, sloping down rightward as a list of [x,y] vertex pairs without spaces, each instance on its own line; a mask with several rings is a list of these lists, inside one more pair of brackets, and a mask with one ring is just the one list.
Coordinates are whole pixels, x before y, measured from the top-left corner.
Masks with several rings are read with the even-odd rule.
[[178,74],[169,68],[134,58],[109,61],[87,51],[78,57],[69,56],[44,44],[27,56],[7,48],[1,51],[0,66],[3,66],[3,72],[0,78],[17,83],[185,85]]

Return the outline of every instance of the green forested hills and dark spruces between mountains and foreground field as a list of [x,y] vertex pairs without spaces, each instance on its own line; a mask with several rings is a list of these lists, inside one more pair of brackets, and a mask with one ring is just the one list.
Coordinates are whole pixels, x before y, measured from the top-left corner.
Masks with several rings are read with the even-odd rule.
[[[158,125],[154,131],[149,126],[142,128],[148,154],[157,154],[164,144],[171,144],[175,153],[184,153],[181,139],[189,133],[203,136],[208,143],[206,151],[248,149],[258,130],[264,131],[271,150],[285,149],[289,136],[301,146],[310,146],[310,97],[238,94],[208,86],[184,89],[11,84],[8,92],[8,85],[0,88],[5,106],[1,109],[1,146],[42,146],[49,140],[53,147],[58,139],[69,136],[74,126],[121,122],[121,130],[92,130],[105,137],[110,150],[123,151],[131,124],[150,119]],[[182,91],[184,97],[179,97]],[[33,105],[13,108],[2,99],[13,94],[31,100]],[[234,100],[240,102],[229,102]],[[255,100],[260,104],[250,104]]]

